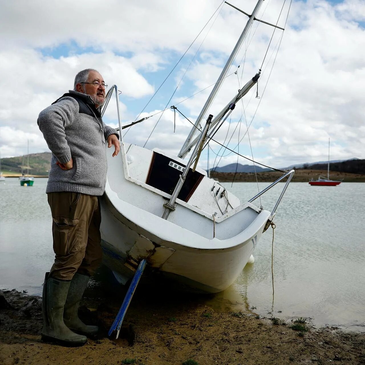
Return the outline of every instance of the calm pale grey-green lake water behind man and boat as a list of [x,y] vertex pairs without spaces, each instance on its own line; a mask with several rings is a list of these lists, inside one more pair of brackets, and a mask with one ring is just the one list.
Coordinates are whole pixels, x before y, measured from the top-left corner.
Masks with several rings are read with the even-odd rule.
[[[54,257],[46,184],[42,178],[33,187],[20,187],[16,178],[0,183],[1,289],[41,294]],[[257,193],[254,183],[224,185],[241,201]],[[259,183],[260,190],[266,185]],[[265,209],[272,209],[283,185],[265,193]],[[256,246],[254,264],[246,265],[236,282],[207,304],[227,310],[256,307],[252,311],[262,316],[273,311],[282,319],[311,317],[317,326],[365,331],[364,196],[361,183],[292,183],[275,218],[274,297],[269,228]]]

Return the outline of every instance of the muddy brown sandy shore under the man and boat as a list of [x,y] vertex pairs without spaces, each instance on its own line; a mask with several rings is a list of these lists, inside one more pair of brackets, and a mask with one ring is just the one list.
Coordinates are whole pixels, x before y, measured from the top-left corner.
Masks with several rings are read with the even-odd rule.
[[78,348],[41,341],[40,297],[0,291],[0,364],[365,364],[365,333],[214,311],[197,295],[143,284],[120,338],[108,338],[124,297],[118,291],[87,289],[80,317],[101,333]]

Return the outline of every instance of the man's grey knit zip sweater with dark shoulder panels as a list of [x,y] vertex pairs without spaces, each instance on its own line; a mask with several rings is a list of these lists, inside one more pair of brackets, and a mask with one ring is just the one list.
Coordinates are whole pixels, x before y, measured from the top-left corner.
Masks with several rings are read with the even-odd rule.
[[[51,169],[46,193],[78,192],[103,195],[106,183],[107,159],[105,141],[118,132],[104,124],[87,94],[70,90],[38,117],[49,149],[52,151]],[[73,159],[73,168],[62,170],[62,164]]]

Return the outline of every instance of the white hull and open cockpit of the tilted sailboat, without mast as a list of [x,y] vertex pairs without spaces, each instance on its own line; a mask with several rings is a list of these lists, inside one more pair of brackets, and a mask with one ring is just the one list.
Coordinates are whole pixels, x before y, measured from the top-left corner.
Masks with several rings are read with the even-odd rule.
[[221,197],[223,187],[200,170],[205,176],[188,202],[177,199],[176,211],[162,219],[170,195],[144,182],[153,151],[123,144],[117,157],[107,152],[101,237],[104,263],[119,280],[125,283],[147,258],[150,268],[198,291],[214,293],[231,285],[272,219],[270,212],[251,203],[239,205],[229,192],[228,200]]

